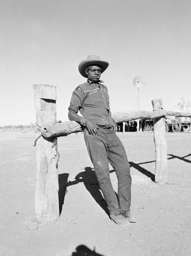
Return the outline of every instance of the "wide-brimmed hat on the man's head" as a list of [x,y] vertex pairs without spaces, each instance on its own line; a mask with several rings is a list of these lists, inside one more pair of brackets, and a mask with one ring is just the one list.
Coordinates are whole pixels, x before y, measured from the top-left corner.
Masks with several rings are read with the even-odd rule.
[[109,66],[108,61],[105,60],[100,60],[100,57],[96,55],[89,55],[86,60],[82,60],[79,65],[78,65],[78,70],[80,74],[84,77],[88,77],[85,73],[85,69],[88,66],[93,66],[93,65],[99,65],[102,67],[102,73],[106,70],[106,68]]

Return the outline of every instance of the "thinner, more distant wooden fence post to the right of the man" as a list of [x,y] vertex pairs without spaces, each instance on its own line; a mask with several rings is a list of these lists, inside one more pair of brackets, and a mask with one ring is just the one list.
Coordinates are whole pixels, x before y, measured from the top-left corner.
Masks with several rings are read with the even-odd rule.
[[[152,104],[153,111],[162,109],[162,99],[154,99]],[[168,175],[165,118],[156,117],[153,119],[153,122],[156,152],[155,182],[164,184],[166,183]]]

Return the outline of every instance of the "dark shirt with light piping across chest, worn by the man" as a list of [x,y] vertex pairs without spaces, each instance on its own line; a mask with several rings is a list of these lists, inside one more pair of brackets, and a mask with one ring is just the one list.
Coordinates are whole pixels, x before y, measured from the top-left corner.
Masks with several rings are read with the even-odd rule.
[[68,110],[79,111],[83,117],[97,125],[108,125],[111,118],[108,89],[103,81],[86,81],[73,91]]

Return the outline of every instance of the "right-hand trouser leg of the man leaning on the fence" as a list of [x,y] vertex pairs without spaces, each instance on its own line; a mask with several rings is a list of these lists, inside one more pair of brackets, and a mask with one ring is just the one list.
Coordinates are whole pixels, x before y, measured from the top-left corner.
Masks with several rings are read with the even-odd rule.
[[118,203],[121,211],[129,211],[131,204],[130,167],[123,143],[115,133],[109,134],[108,159],[118,178]]

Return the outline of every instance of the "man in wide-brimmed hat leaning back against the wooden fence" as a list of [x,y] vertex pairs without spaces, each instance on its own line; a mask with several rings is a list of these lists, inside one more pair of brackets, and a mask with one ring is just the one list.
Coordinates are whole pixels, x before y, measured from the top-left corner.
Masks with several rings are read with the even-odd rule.
[[[88,78],[80,84],[68,107],[68,118],[83,126],[83,135],[100,189],[111,219],[118,225],[128,225],[130,220],[131,176],[126,151],[116,135],[116,125],[109,108],[108,89],[100,80],[109,63],[97,56],[88,56],[79,63],[82,76]],[[82,116],[80,116],[78,113]],[[109,177],[109,163],[118,178],[116,195]]]

